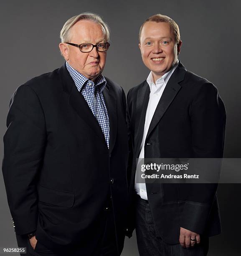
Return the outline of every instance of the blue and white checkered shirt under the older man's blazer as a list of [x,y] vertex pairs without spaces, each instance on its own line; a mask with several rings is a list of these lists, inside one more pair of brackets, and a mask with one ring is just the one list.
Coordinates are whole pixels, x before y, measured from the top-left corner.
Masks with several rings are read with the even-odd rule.
[[78,91],[82,93],[89,105],[89,108],[96,117],[109,148],[109,117],[102,94],[104,87],[106,86],[106,79],[102,74],[100,74],[99,77],[96,78],[95,82],[93,82],[73,69],[67,61],[66,68],[73,78]]

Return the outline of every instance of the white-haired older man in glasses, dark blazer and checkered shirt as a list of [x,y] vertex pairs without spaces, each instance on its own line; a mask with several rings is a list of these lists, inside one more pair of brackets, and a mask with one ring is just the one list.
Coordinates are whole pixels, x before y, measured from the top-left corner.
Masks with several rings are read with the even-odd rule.
[[65,64],[18,87],[10,102],[3,175],[18,244],[28,242],[29,255],[120,255],[126,103],[101,74],[109,29],[81,13],[60,36]]

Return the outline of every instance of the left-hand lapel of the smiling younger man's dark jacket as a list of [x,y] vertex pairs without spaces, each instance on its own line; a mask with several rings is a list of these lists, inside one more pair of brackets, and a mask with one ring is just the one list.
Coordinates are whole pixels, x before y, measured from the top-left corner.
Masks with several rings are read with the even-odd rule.
[[136,106],[136,116],[135,118],[135,138],[134,138],[134,145],[135,150],[134,152],[139,155],[141,143],[142,143],[142,136],[144,132],[145,126],[145,117],[147,112],[147,105],[149,102],[149,95],[150,95],[150,87],[147,81],[143,83],[143,86],[137,92],[137,106]]

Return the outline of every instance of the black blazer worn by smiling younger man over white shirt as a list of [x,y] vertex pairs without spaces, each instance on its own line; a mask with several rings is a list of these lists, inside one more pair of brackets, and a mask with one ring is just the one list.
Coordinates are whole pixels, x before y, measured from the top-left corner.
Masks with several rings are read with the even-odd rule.
[[[127,95],[132,195],[149,94],[144,81]],[[217,88],[179,63],[150,123],[145,158],[221,158],[225,123],[226,111]],[[207,236],[221,232],[217,184],[149,183],[146,188],[155,225],[167,243],[179,243],[180,227]]]

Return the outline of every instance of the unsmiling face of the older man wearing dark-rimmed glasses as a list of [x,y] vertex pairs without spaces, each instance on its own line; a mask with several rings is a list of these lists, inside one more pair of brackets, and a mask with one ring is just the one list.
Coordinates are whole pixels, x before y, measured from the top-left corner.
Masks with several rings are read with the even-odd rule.
[[[79,20],[69,32],[68,43],[96,45],[106,42],[104,28],[91,20]],[[104,69],[106,52],[99,52],[96,47],[91,52],[81,52],[79,47],[64,43],[59,47],[68,64],[90,80],[94,81]]]

